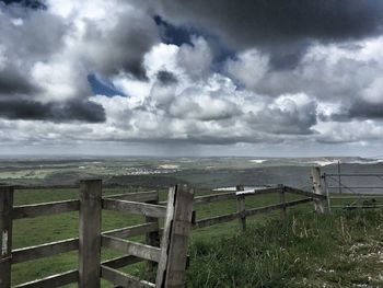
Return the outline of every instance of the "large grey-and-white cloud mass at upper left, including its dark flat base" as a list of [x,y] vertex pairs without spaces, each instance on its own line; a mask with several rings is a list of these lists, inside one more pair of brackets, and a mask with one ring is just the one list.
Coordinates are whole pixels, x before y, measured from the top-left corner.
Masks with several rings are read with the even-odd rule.
[[[76,13],[68,21],[54,5],[0,0],[0,118],[104,122],[104,107],[90,101],[88,76],[147,80],[142,61],[160,39],[155,22],[141,4],[116,1],[107,11],[113,24],[90,16],[79,28]],[[79,30],[82,37],[74,36]]]

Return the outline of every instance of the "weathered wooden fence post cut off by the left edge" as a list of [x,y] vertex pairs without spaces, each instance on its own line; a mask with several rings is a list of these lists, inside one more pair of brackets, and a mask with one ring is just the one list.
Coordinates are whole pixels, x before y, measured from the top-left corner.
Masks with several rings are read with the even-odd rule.
[[0,288],[11,287],[13,187],[0,186]]

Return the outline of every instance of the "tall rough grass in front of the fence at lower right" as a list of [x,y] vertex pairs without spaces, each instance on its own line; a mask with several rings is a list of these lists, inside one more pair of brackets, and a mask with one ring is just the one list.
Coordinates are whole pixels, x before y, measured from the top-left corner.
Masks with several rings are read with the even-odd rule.
[[371,239],[382,240],[382,220],[381,211],[301,214],[285,221],[272,219],[253,224],[245,233],[219,241],[195,241],[190,246],[187,286],[274,288],[365,284],[360,270],[359,276],[352,275],[352,269],[359,267],[358,263],[350,266],[348,249]]

